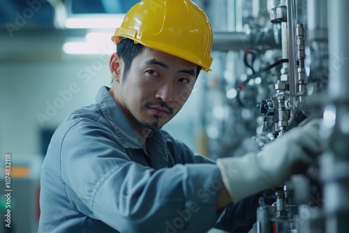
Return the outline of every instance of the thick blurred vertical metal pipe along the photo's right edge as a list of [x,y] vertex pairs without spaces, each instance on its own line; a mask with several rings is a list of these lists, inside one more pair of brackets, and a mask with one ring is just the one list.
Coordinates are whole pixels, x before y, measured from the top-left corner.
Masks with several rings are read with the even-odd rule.
[[331,104],[324,114],[327,151],[320,170],[324,180],[326,232],[344,233],[349,232],[349,1],[332,0],[327,7]]

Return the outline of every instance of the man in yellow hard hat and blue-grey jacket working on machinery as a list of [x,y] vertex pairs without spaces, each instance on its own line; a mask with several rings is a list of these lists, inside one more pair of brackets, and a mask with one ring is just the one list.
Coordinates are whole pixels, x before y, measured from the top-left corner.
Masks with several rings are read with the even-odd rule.
[[112,87],[71,113],[47,150],[39,232],[247,232],[258,193],[320,153],[313,122],[218,165],[161,130],[211,65],[211,25],[191,1],[143,0],[112,39]]

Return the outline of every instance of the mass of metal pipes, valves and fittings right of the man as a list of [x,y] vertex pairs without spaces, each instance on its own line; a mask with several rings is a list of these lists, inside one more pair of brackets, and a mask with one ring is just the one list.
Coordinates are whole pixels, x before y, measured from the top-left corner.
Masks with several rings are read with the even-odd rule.
[[325,153],[265,190],[257,232],[349,232],[349,1],[222,0],[207,9],[216,68],[225,70],[207,82],[209,156],[259,151],[322,119]]

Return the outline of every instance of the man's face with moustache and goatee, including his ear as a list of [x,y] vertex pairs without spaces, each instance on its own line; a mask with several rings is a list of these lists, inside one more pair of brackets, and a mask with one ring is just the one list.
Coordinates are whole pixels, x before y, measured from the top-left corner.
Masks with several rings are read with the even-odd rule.
[[198,67],[194,63],[144,47],[122,77],[124,62],[113,56],[112,70],[113,60],[117,62],[117,72],[112,71],[113,96],[138,129],[161,128],[181,110],[193,90]]

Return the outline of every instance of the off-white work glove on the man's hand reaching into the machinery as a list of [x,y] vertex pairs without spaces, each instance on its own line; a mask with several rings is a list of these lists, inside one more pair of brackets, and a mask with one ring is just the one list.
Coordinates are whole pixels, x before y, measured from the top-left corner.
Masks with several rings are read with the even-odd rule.
[[[233,202],[281,185],[321,153],[320,119],[290,131],[267,144],[260,154],[218,158],[216,163]],[[305,165],[305,166],[304,166]]]

